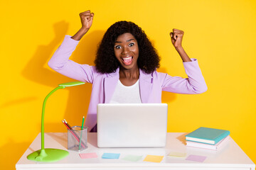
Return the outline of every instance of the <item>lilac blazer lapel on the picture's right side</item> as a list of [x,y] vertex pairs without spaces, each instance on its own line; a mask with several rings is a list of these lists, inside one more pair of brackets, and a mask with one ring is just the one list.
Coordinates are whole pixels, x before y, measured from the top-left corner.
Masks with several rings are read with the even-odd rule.
[[139,69],[139,91],[142,99],[142,103],[149,102],[149,95],[151,94],[153,77],[151,74],[146,74]]

